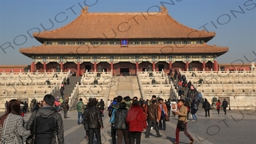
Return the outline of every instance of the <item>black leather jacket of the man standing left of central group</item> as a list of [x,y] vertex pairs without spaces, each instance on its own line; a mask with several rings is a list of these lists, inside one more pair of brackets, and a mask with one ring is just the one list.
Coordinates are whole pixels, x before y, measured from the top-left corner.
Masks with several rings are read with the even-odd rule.
[[101,111],[97,106],[92,106],[88,108],[85,113],[85,120],[88,124],[88,129],[100,129],[103,128],[102,116]]

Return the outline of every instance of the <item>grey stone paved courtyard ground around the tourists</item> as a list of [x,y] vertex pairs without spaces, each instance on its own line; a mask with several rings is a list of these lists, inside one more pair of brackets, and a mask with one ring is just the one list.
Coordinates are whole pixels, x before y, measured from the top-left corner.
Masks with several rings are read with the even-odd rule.
[[[195,143],[256,143],[256,111],[255,109],[231,110],[224,115],[223,111],[218,115],[215,109],[211,110],[211,116],[205,117],[202,104],[196,113],[198,120],[188,121],[188,131],[195,139]],[[63,115],[62,112],[60,112]],[[1,112],[3,115],[3,112]],[[25,115],[25,122],[31,114]],[[190,118],[190,116],[189,116]],[[103,117],[104,129],[102,132],[102,143],[111,143],[110,125],[107,113]],[[83,125],[77,125],[77,111],[69,111],[68,118],[63,119],[65,144],[87,143],[84,139],[85,131]],[[141,136],[141,143],[173,143],[175,141],[175,127],[177,117],[171,117],[170,122],[166,122],[166,131],[161,131],[162,138],[156,138],[156,132],[151,130],[150,138],[144,138],[145,132]],[[180,143],[189,143],[188,138],[180,132]]]

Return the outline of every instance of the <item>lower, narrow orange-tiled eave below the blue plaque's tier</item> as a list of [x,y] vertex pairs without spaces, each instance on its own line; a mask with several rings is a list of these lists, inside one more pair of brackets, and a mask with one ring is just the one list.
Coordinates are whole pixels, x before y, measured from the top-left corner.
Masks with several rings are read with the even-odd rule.
[[187,45],[41,45],[20,49],[26,56],[60,54],[60,55],[125,55],[125,54],[216,54],[220,56],[228,52],[228,47],[217,47],[206,44]]

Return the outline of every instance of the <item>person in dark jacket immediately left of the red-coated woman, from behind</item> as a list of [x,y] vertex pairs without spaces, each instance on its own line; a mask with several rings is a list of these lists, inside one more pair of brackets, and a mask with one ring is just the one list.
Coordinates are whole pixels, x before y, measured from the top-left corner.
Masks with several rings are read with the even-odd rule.
[[117,144],[123,143],[123,137],[125,144],[130,144],[129,140],[129,127],[126,124],[128,109],[125,102],[120,103],[120,107],[116,110],[114,125],[117,133]]

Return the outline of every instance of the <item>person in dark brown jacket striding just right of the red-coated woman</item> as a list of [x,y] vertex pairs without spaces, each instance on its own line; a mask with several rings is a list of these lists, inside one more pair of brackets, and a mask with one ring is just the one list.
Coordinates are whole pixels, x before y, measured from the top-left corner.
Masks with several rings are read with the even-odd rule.
[[147,131],[145,133],[145,138],[149,138],[149,132],[150,129],[152,127],[152,125],[154,125],[155,130],[156,130],[156,137],[161,137],[161,135],[159,134],[159,127],[157,125],[157,122],[159,122],[158,120],[158,111],[157,111],[157,105],[156,105],[156,100],[152,100],[152,104],[150,106],[148,106],[148,110],[147,110],[147,122],[148,122],[148,127],[147,127]]

